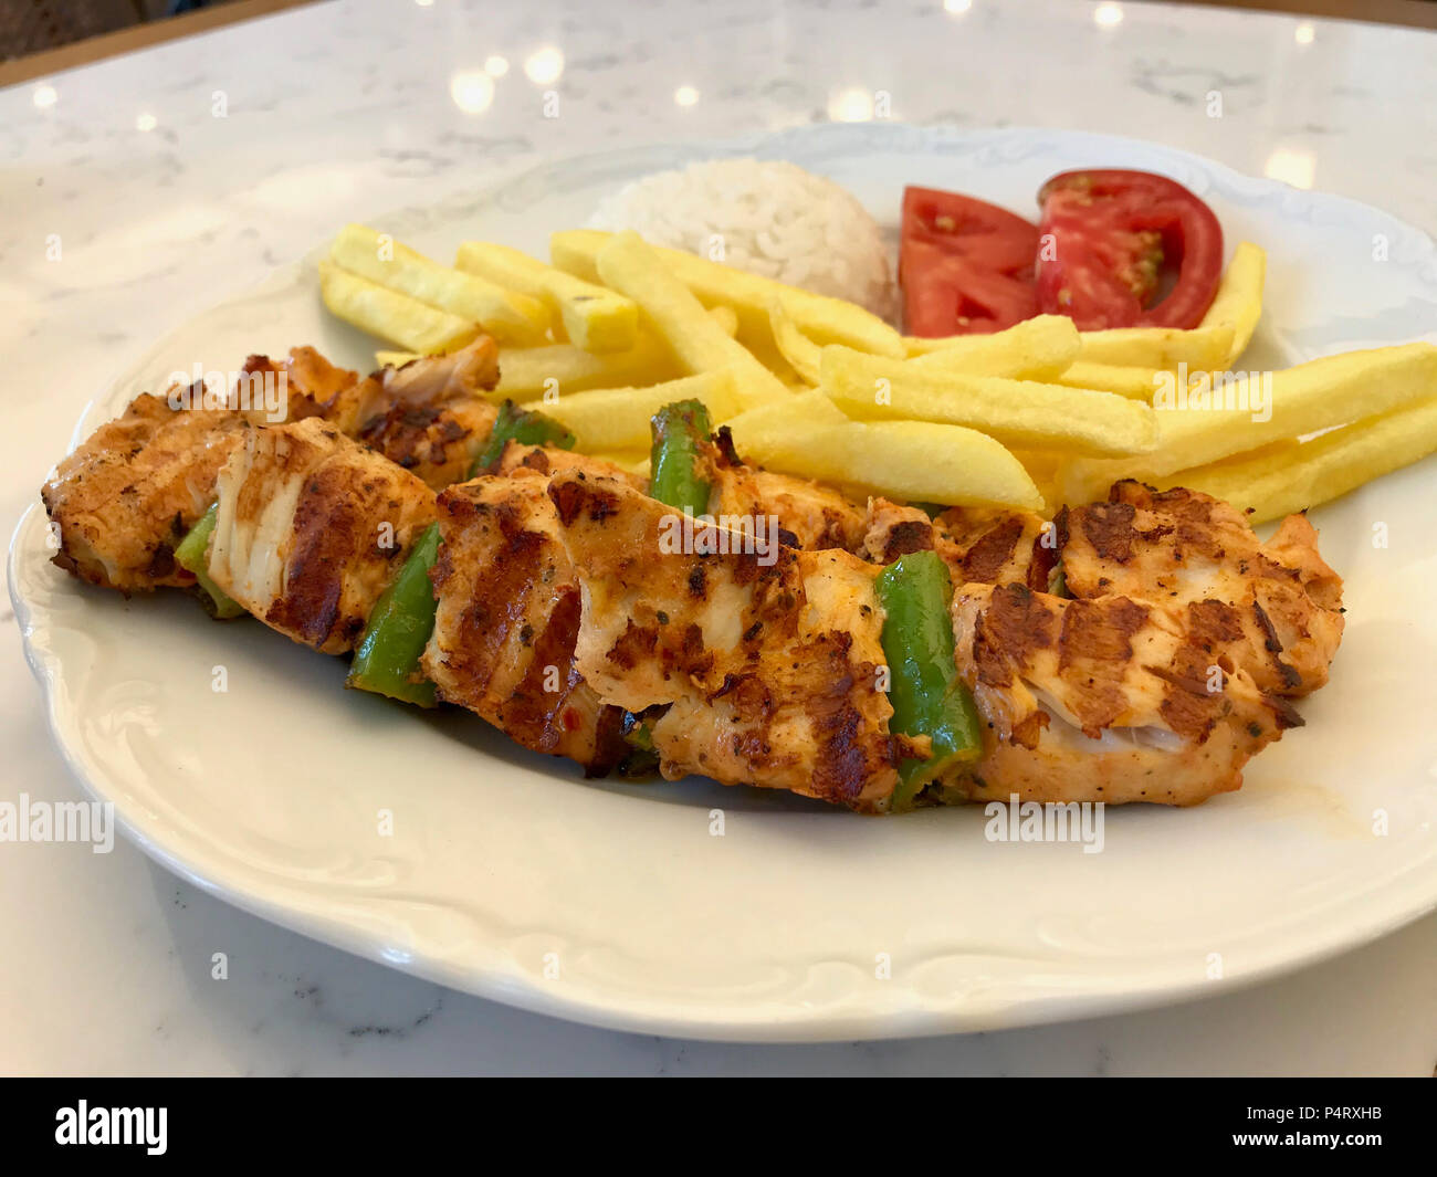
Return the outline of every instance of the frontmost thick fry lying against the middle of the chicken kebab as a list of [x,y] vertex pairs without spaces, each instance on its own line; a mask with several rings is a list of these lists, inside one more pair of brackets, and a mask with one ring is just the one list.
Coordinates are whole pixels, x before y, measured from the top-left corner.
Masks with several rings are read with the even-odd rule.
[[898,500],[1043,506],[1019,460],[986,434],[924,421],[833,420],[806,412],[806,400],[790,397],[733,418],[739,453],[769,470]]

